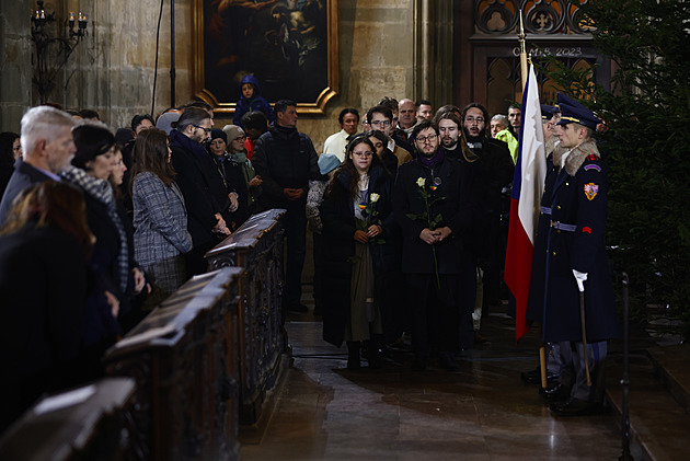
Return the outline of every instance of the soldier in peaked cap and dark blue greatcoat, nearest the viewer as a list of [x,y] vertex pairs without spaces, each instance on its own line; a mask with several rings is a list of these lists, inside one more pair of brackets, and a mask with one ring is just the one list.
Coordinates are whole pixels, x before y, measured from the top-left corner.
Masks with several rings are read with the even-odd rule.
[[[585,106],[559,93],[560,145],[553,152],[541,201],[527,319],[542,325],[544,342],[560,343],[564,364],[572,364],[570,399],[554,403],[557,415],[597,413],[603,400],[607,341],[617,337],[611,269],[603,232],[607,216],[607,174],[593,134],[601,123]],[[585,289],[587,384],[579,289]],[[562,384],[565,373],[562,373]]]

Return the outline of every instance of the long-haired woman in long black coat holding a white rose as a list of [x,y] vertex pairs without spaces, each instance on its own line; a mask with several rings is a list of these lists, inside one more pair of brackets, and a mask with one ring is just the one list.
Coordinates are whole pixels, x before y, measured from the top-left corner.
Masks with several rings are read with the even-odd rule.
[[325,247],[323,338],[347,342],[347,368],[357,369],[361,342],[368,342],[369,367],[381,366],[383,323],[380,275],[394,261],[387,238],[391,216],[391,178],[364,136],[347,146],[321,206]]

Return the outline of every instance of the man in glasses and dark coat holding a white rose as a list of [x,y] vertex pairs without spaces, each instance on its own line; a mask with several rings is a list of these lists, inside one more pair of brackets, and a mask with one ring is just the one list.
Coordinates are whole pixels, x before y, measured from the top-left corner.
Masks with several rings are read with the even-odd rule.
[[446,158],[439,143],[436,124],[415,126],[417,158],[399,166],[393,192],[416,371],[426,369],[432,351],[456,370],[456,353],[474,339],[473,185],[467,166]]

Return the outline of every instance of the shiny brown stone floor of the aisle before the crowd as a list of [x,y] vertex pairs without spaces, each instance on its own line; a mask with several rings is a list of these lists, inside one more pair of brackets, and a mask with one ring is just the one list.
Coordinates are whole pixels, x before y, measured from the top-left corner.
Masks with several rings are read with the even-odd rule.
[[459,372],[413,372],[392,351],[382,370],[349,371],[345,347],[321,339],[311,313],[287,322],[294,364],[258,460],[612,460],[621,454],[613,414],[560,418],[520,371],[537,365],[537,336],[516,347],[514,323],[484,320],[490,344],[467,353]]

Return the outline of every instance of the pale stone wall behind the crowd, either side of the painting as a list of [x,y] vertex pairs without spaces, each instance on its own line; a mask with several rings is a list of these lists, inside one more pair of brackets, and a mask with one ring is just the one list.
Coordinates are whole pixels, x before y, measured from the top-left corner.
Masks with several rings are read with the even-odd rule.
[[[343,107],[366,111],[384,95],[396,99],[422,97],[414,85],[414,16],[417,3],[429,0],[340,0],[338,95],[325,115],[303,115],[298,122],[309,134],[317,151],[325,138],[340,129],[337,114]],[[33,74],[31,22],[33,1],[2,2],[0,45],[1,129],[19,130],[21,114],[38,103]],[[175,1],[176,104],[193,96],[191,83],[194,59],[192,2]],[[151,112],[151,89],[156,62],[156,28],[160,2],[110,0],[85,2],[89,36],[79,45],[59,77],[49,101],[66,108],[93,108],[114,127],[127,126],[133,114]],[[47,1],[45,9],[66,21],[69,11],[80,9],[80,0]],[[164,2],[161,21],[156,110],[170,101],[170,2]],[[222,127],[229,117],[218,114]]]

